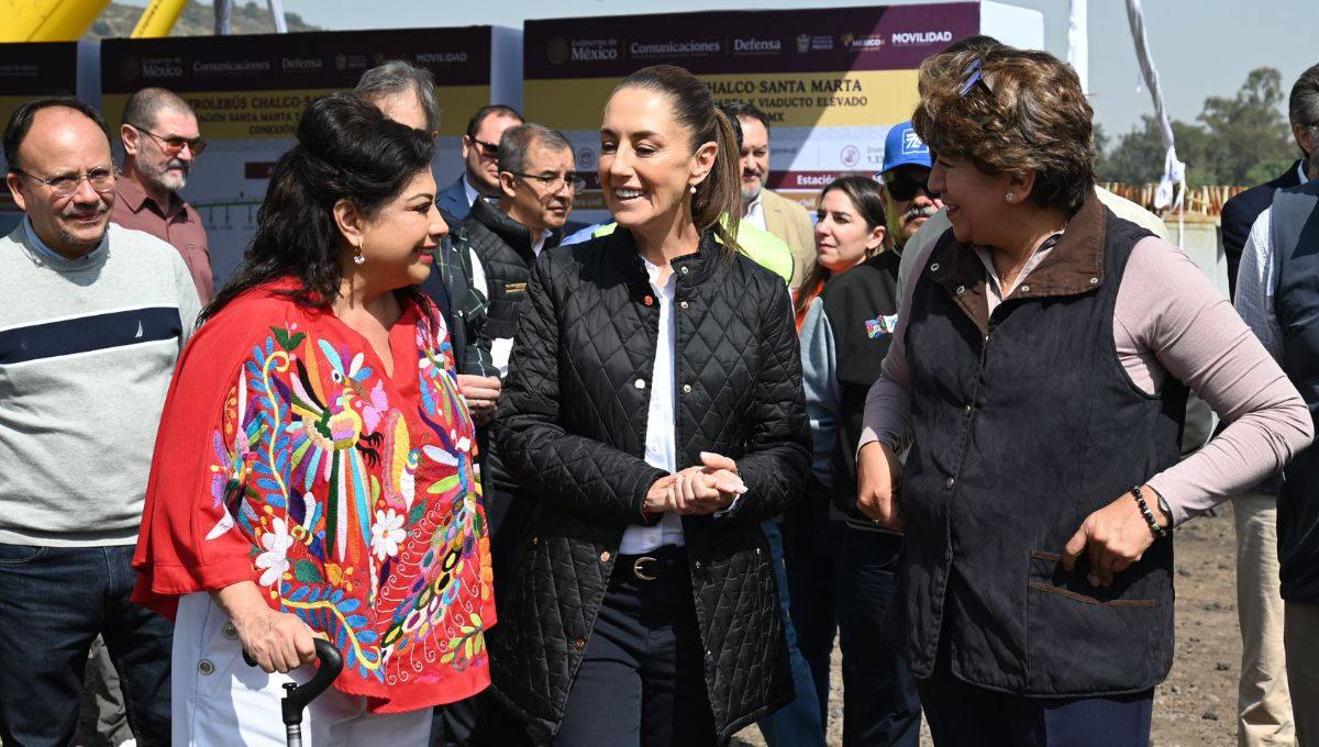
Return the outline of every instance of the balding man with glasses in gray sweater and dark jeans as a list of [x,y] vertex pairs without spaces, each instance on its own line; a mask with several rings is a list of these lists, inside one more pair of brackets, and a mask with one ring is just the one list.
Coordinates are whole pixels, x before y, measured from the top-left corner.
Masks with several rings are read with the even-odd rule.
[[156,427],[198,296],[169,244],[109,225],[106,123],[18,107],[0,238],[0,742],[71,744],[103,635],[142,747],[168,744],[171,624],[128,601]]

